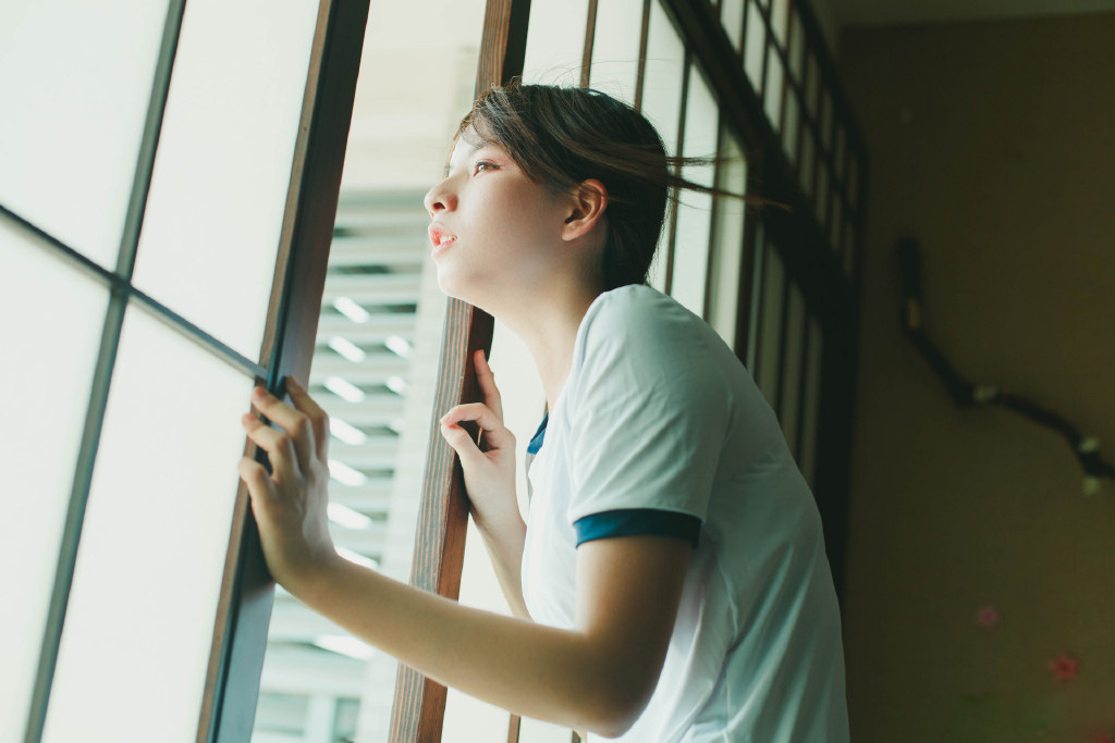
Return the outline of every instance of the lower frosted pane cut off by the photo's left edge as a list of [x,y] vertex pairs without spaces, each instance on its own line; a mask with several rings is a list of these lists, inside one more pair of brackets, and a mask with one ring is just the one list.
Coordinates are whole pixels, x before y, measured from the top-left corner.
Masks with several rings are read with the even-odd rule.
[[23,740],[107,290],[0,217],[0,741]]

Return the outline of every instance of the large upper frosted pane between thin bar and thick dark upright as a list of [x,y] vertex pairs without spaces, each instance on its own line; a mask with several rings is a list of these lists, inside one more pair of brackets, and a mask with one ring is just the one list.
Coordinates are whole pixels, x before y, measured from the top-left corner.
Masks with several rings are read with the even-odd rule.
[[256,359],[317,2],[186,3],[135,282]]

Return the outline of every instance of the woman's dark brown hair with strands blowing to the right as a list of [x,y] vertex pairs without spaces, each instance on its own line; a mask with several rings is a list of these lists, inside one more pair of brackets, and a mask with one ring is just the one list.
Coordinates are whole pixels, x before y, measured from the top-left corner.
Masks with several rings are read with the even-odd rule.
[[474,101],[457,135],[468,127],[506,150],[536,183],[555,190],[589,178],[604,184],[605,290],[646,282],[667,202],[679,189],[726,195],[678,175],[682,165],[709,165],[715,158],[668,157],[642,114],[598,90],[518,84],[492,88]]

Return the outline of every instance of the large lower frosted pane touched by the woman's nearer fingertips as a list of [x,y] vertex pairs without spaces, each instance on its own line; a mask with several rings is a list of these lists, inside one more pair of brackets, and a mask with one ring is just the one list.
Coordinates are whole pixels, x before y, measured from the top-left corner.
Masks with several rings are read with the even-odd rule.
[[251,387],[128,311],[46,743],[196,737]]

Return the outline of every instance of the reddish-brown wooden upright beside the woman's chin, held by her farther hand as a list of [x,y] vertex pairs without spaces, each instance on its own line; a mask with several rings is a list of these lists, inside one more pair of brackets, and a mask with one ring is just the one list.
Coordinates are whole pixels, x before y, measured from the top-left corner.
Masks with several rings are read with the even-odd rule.
[[[530,8],[530,0],[488,0],[477,92],[522,74]],[[436,420],[454,405],[481,399],[468,359],[477,349],[487,352],[492,348],[492,330],[491,315],[459,300],[449,300],[432,413],[435,424],[430,426],[410,568],[411,585],[449,598],[456,598],[460,589],[468,506],[460,466],[438,433]],[[445,700],[445,686],[400,664],[391,708],[391,743],[440,740]]]

